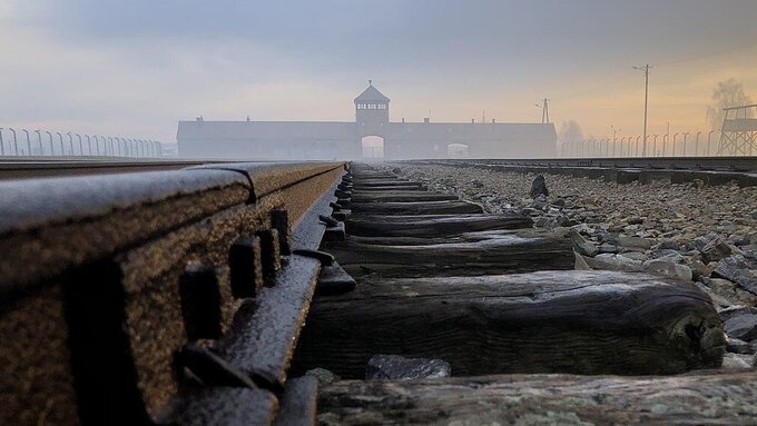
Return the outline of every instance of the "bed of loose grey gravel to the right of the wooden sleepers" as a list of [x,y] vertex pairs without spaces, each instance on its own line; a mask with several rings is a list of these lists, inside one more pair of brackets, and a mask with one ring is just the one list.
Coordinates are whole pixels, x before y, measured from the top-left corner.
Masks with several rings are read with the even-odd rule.
[[528,215],[535,227],[573,238],[579,269],[639,270],[695,281],[730,321],[734,361],[756,361],[757,187],[622,185],[543,175],[549,197],[533,199],[529,192],[537,174],[406,162],[380,168],[478,202],[486,212]]

